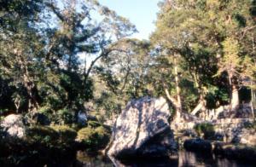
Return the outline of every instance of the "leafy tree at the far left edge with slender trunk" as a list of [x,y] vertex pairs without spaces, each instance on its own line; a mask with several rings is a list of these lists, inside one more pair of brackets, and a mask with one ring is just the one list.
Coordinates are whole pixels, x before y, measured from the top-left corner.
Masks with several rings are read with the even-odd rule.
[[38,50],[42,49],[42,45],[33,24],[43,5],[41,1],[9,1],[2,2],[1,7],[0,68],[3,76],[12,78],[11,84],[16,89],[26,89],[28,110],[34,111],[38,109],[38,92],[33,68],[37,66],[40,57]]

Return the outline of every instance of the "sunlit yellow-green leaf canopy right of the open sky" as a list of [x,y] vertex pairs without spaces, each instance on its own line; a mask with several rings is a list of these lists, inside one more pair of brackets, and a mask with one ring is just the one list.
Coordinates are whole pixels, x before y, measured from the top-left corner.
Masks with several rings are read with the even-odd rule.
[[[183,80],[192,81],[194,88],[189,90],[197,89],[197,93],[192,93],[194,96],[200,95],[212,101],[212,104],[207,104],[208,107],[216,107],[217,101],[226,103],[231,89],[241,87],[243,80],[253,80],[254,3],[237,0],[174,0],[172,3],[160,3],[157,28],[151,37],[159,50],[156,55],[160,60],[158,62],[163,65],[161,57],[172,60],[173,55],[180,55],[177,67],[182,76],[181,83]],[[250,70],[246,66],[250,66]],[[175,65],[169,63],[169,76],[173,76],[173,68]],[[163,77],[166,72],[161,71]],[[166,75],[162,81],[169,82],[166,85],[170,86],[173,78]],[[186,95],[188,88],[183,84],[180,86],[184,89],[185,105],[188,97],[193,95]],[[175,97],[175,91],[171,93]]]

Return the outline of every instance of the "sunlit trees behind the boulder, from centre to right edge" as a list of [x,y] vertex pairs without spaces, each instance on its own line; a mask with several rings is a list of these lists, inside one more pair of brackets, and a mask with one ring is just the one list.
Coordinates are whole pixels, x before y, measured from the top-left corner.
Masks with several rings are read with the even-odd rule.
[[253,102],[255,2],[164,0],[159,6],[150,41],[119,41],[119,52],[102,59],[96,108],[118,114],[131,98],[165,95],[174,111],[204,118],[209,109],[230,104],[234,111]]

